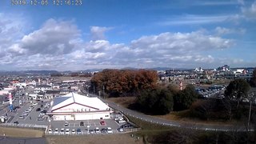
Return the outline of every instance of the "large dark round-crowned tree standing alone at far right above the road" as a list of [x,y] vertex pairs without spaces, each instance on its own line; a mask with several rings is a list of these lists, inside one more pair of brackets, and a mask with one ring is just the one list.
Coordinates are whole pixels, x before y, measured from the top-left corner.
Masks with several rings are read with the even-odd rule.
[[235,79],[230,82],[230,84],[226,87],[225,97],[230,100],[237,101],[237,108],[239,107],[239,103],[242,98],[245,98],[247,92],[250,90],[250,85],[244,79]]

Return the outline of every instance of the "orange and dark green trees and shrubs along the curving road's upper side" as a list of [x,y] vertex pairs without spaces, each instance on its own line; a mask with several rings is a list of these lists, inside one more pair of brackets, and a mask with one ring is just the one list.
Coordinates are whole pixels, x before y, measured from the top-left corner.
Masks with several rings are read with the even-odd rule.
[[[255,80],[254,70],[250,83]],[[105,98],[112,98],[112,101],[119,101],[123,106],[144,114],[174,114],[176,118],[200,121],[248,122],[250,105],[242,100],[250,95],[250,85],[243,79],[231,81],[222,99],[198,99],[193,85],[177,90],[173,85],[158,84],[158,75],[154,70],[103,70],[94,75],[91,84],[91,89],[102,91]],[[252,105],[252,123],[256,119],[255,112],[256,107]]]

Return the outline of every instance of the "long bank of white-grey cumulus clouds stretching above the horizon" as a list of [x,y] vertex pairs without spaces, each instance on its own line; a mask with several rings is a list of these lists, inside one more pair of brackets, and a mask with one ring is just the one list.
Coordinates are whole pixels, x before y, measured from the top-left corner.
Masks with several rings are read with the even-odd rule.
[[[3,23],[1,19],[0,22]],[[2,42],[6,39],[1,34],[10,30],[6,27],[1,27]],[[222,34],[232,31],[223,27],[216,30]],[[101,30],[94,30],[96,34],[100,34],[98,31]],[[102,31],[104,36],[104,30]],[[8,41],[7,45],[0,43],[2,54],[5,54],[0,58],[0,66],[13,66],[19,70],[83,70],[126,66],[195,67],[209,66],[209,63],[214,66],[220,61],[210,52],[234,46],[233,40],[206,34],[204,30],[145,35],[128,44],[111,43],[103,39],[83,42],[81,37],[74,22],[50,19],[30,34]],[[222,62],[238,63],[242,60],[224,59]]]

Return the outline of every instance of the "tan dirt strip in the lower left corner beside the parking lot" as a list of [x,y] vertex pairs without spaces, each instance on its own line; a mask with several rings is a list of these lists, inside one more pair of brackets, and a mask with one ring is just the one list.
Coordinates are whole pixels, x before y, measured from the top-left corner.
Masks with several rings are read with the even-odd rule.
[[42,138],[43,134],[42,130],[0,127],[0,135],[6,137]]

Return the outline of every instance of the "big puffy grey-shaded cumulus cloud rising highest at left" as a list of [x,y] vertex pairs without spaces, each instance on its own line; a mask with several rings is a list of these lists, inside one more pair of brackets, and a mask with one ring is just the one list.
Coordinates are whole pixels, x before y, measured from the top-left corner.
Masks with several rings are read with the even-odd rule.
[[25,35],[19,45],[29,54],[68,54],[79,36],[80,31],[72,22],[49,19],[41,29]]

